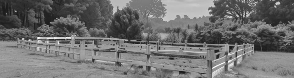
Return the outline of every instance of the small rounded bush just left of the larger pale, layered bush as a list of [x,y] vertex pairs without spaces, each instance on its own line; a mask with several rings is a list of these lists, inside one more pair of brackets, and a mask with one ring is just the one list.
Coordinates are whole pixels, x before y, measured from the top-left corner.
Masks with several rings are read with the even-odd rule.
[[55,37],[56,34],[54,33],[53,29],[49,27],[49,25],[43,24],[37,28],[39,34],[38,37]]

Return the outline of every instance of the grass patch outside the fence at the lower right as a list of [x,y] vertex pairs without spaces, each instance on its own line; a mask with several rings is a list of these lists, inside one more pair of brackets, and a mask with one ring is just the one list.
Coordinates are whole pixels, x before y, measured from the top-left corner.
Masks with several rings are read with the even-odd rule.
[[217,78],[294,78],[294,53],[259,52]]

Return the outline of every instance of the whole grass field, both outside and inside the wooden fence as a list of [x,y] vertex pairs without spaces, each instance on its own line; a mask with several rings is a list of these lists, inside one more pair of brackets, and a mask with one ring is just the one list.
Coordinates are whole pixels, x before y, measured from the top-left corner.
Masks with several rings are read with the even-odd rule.
[[[146,72],[135,67],[113,64],[87,63],[63,56],[29,51],[15,47],[16,42],[0,41],[0,78],[187,78],[187,75],[173,77],[172,71],[157,69]],[[105,52],[102,56],[114,55]],[[294,78],[294,53],[256,52],[247,57],[232,71],[224,72],[217,78]],[[122,59],[145,61],[144,55],[122,54]],[[205,60],[180,59],[154,56],[151,62],[205,68]],[[198,77],[196,77],[198,78]],[[200,77],[201,78],[201,77]]]

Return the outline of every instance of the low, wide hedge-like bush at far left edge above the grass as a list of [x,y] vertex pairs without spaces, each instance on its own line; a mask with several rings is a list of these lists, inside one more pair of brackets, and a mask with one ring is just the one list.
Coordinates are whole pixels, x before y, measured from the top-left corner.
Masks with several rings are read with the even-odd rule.
[[0,30],[1,41],[13,41],[17,40],[17,38],[36,39],[36,36],[28,28],[12,28]]

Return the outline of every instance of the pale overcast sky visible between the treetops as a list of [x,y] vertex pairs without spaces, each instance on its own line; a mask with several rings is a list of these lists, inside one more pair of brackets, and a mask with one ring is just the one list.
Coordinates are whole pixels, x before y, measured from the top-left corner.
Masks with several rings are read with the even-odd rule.
[[[116,7],[119,9],[125,7],[126,3],[131,0],[110,0],[116,12]],[[163,18],[164,21],[175,19],[176,15],[184,17],[187,15],[191,19],[194,17],[211,16],[209,15],[208,7],[214,6],[214,0],[162,0],[166,4],[166,15]]]

